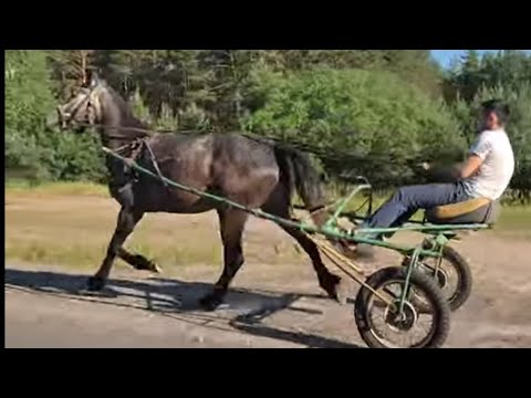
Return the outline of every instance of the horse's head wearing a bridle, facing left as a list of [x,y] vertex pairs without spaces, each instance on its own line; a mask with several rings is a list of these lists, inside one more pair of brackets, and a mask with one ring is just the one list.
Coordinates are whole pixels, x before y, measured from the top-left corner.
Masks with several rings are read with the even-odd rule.
[[104,92],[104,82],[92,73],[88,82],[76,90],[65,104],[58,106],[61,129],[72,127],[81,133],[85,127],[101,124]]

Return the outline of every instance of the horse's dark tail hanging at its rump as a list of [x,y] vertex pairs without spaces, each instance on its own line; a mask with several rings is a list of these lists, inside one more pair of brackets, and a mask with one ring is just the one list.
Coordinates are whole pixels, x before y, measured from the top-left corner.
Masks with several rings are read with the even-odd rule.
[[321,178],[310,157],[280,144],[274,145],[274,153],[280,168],[280,182],[288,188],[290,198],[296,190],[305,209],[321,227],[326,221],[326,214],[320,212],[325,207],[325,197]]

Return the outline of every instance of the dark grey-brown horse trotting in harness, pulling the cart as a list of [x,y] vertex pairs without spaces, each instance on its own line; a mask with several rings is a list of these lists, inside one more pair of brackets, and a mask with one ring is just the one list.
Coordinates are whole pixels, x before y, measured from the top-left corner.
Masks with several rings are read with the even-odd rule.
[[[72,98],[58,107],[62,128],[82,133],[85,126],[98,129],[107,148],[136,160],[140,166],[197,190],[216,193],[240,205],[290,219],[291,197],[296,189],[317,226],[324,206],[321,181],[309,158],[266,138],[241,134],[154,134],[131,112],[126,102],[95,74]],[[102,290],[116,256],[137,270],[157,272],[142,255],[123,244],[147,212],[200,213],[216,210],[223,243],[223,271],[214,290],[199,302],[216,310],[243,264],[242,233],[248,214],[207,200],[142,174],[107,156],[110,191],[122,209],[116,230],[98,271],[88,280],[92,291]],[[342,280],[323,264],[315,244],[300,230],[281,227],[309,254],[320,286],[331,298],[344,302]]]

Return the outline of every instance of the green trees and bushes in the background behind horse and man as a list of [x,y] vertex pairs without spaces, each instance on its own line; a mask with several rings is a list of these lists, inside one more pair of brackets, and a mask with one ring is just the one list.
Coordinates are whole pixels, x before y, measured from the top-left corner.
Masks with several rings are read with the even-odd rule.
[[382,188],[421,182],[418,161],[460,160],[480,102],[506,98],[511,188],[531,196],[531,56],[522,51],[470,50],[445,75],[429,50],[8,50],[7,176],[104,179],[97,137],[48,126],[87,69],[154,129],[250,129],[309,144],[330,176],[365,174]]

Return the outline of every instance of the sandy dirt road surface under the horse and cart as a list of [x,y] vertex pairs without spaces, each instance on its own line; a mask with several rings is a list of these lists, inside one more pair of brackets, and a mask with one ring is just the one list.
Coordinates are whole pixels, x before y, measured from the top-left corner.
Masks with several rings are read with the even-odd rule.
[[[184,227],[215,222],[211,214],[178,220]],[[280,229],[257,219],[248,224],[247,235],[264,245],[292,245]],[[468,238],[458,250],[473,264],[475,287],[452,315],[446,346],[531,347],[529,238],[483,233]],[[377,253],[378,265],[397,261],[394,254]],[[352,304],[327,300],[304,259],[268,265],[251,258],[235,280],[227,307],[201,312],[197,300],[217,280],[220,266],[166,269],[154,276],[119,265],[105,294],[90,296],[80,293],[88,273],[7,262],[6,346],[365,347]],[[353,285],[353,296],[355,292]]]

